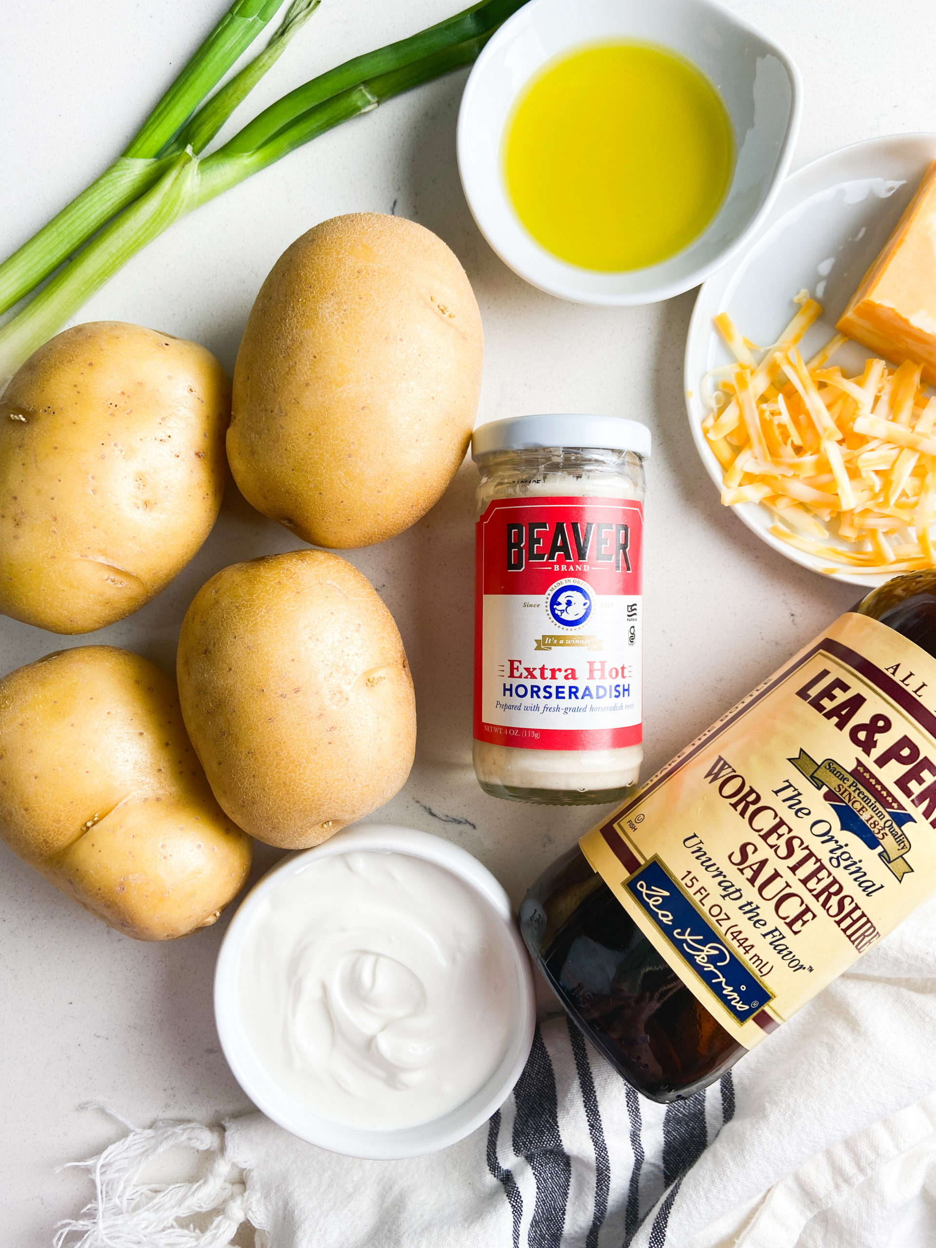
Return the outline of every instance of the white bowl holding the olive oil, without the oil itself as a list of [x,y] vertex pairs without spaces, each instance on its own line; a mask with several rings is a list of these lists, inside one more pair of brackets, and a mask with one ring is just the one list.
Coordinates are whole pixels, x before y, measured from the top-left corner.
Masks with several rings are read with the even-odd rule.
[[[684,251],[620,273],[578,268],[520,225],[504,185],[502,139],[510,109],[553,57],[610,39],[643,40],[696,65],[718,87],[735,135],[735,170],[721,210]],[[458,115],[458,168],[478,228],[533,286],[574,303],[655,303],[681,295],[758,228],[786,175],[802,87],[789,56],[715,0],[530,0],[495,31],[474,64]]]

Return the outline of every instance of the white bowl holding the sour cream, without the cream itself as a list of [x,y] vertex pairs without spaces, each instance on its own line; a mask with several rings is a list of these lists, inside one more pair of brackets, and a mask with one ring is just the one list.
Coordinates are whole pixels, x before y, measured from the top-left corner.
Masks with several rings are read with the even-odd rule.
[[[467,884],[499,920],[504,947],[517,971],[515,1020],[507,1052],[488,1082],[458,1108],[432,1122],[402,1131],[363,1131],[319,1118],[297,1104],[267,1073],[247,1037],[238,1005],[238,961],[245,943],[252,937],[261,904],[282,881],[285,874],[301,871],[311,857],[376,850],[408,854],[444,867]],[[466,850],[428,832],[386,824],[362,824],[338,832],[323,845],[291,854],[260,880],[241,902],[225,934],[215,970],[215,1021],[227,1065],[257,1108],[306,1139],[347,1157],[396,1158],[433,1153],[470,1134],[499,1109],[510,1094],[529,1056],[535,1027],[537,1005],[529,957],[513,922],[510,902],[487,867]]]

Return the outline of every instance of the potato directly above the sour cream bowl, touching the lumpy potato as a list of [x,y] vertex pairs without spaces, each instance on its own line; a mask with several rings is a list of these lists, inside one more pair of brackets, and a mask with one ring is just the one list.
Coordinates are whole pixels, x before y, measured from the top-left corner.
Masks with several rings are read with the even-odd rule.
[[268,845],[301,849],[388,801],[416,748],[393,617],[322,550],[236,563],[195,597],[178,696],[215,796]]

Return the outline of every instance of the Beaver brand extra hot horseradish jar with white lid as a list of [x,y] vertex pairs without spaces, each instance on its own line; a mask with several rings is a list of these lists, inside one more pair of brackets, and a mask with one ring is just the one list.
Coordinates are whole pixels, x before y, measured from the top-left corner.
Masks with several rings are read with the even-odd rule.
[[514,801],[620,801],[643,759],[644,459],[610,416],[474,431],[474,773]]

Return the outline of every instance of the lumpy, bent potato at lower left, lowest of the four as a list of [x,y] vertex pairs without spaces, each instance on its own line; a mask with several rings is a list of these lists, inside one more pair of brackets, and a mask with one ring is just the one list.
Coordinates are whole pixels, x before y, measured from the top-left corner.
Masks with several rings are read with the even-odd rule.
[[60,650],[0,680],[0,829],[56,889],[137,940],[213,924],[251,866],[175,684],[110,645]]

